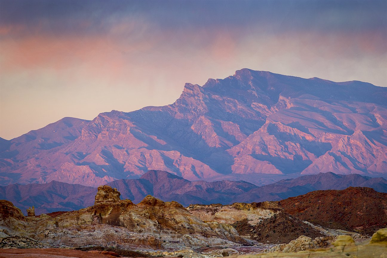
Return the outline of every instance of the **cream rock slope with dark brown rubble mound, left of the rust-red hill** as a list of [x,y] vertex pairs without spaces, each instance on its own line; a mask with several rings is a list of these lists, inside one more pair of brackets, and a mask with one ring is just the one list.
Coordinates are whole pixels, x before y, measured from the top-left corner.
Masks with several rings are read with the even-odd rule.
[[260,243],[289,243],[300,235],[324,236],[303,221],[281,211],[276,202],[190,205],[188,211],[202,220],[231,224],[241,236]]

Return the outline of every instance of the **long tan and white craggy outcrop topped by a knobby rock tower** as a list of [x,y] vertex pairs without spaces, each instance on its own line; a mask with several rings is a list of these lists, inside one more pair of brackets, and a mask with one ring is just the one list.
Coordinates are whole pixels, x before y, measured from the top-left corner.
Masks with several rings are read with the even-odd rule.
[[52,217],[24,217],[12,203],[3,201],[6,207],[0,226],[6,227],[12,236],[56,246],[179,249],[249,243],[232,226],[203,222],[177,202],[163,202],[149,195],[135,205],[130,200],[117,200],[119,193],[106,186],[99,188],[97,196],[91,207]]

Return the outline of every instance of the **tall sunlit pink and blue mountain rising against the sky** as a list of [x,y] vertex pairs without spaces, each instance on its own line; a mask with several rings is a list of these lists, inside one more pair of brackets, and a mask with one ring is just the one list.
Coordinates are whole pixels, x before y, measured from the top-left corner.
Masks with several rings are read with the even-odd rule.
[[149,169],[188,180],[383,174],[386,99],[387,88],[365,82],[241,69],[203,86],[185,84],[168,106],[63,118],[2,139],[0,184],[98,186]]

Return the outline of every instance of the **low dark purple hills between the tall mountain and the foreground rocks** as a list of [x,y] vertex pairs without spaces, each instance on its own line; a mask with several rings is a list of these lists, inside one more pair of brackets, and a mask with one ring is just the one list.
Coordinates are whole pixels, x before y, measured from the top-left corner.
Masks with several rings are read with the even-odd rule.
[[[119,179],[108,185],[117,188],[122,199],[139,203],[152,195],[163,201],[190,204],[231,204],[282,200],[315,190],[342,190],[349,186],[374,188],[387,193],[387,180],[359,174],[319,173],[277,183],[255,186],[244,181],[188,181],[165,171],[148,171],[139,179]],[[35,206],[36,214],[77,210],[91,206],[97,188],[58,181],[46,184],[0,186],[0,199],[8,200],[22,211]]]

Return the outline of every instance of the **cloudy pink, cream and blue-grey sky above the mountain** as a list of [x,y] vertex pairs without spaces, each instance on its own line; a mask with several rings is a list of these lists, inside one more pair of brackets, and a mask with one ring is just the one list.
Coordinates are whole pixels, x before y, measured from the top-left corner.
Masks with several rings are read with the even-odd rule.
[[241,68],[387,86],[385,1],[12,2],[0,1],[5,139],[65,116],[171,104],[185,82]]

